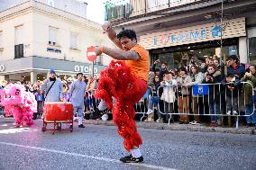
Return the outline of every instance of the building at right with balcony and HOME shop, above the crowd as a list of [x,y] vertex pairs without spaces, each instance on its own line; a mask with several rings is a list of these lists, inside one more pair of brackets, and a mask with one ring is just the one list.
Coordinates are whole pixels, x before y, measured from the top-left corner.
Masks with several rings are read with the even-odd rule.
[[105,7],[116,30],[133,29],[149,50],[151,63],[169,68],[192,57],[239,55],[256,64],[256,1],[251,0],[131,0]]

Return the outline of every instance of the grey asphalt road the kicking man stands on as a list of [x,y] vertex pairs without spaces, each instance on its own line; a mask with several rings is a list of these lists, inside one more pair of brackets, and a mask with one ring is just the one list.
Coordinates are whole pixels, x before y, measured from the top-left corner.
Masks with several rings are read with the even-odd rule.
[[113,126],[41,132],[0,123],[1,170],[59,169],[256,169],[256,136],[187,130],[139,129],[144,163],[123,164],[127,155]]

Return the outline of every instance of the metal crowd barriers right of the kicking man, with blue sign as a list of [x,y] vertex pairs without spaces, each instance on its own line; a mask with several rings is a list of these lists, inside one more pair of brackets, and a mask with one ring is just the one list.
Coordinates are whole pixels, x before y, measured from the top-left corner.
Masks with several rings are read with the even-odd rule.
[[[226,85],[233,87],[233,83]],[[251,94],[246,94],[245,86],[247,86],[247,90],[249,89]],[[185,85],[160,86],[158,97],[163,104],[160,104],[160,102],[157,104],[157,111],[162,115],[169,114],[169,121],[172,119],[171,115],[232,116],[236,117],[236,128],[238,128],[239,117],[248,117],[254,113],[245,114],[246,100],[252,104],[253,111],[255,111],[254,89],[253,85],[249,82],[241,82],[241,85],[238,86],[237,93],[235,91],[228,92],[226,86],[221,83],[198,84],[190,87]],[[139,103],[135,104],[136,113],[143,113],[142,119],[148,111],[147,104],[149,100],[151,100],[151,95],[148,95],[146,98],[143,97]],[[231,108],[237,105],[237,113],[234,114],[234,108],[231,110],[230,115],[227,114],[227,103]]]

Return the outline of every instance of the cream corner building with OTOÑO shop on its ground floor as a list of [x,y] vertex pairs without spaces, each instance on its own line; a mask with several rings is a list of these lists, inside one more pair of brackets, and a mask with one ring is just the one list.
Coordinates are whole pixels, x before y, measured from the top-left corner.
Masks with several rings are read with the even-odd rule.
[[87,60],[89,46],[113,46],[101,25],[38,1],[0,13],[0,79],[35,82],[50,68],[59,77],[99,74],[111,58]]

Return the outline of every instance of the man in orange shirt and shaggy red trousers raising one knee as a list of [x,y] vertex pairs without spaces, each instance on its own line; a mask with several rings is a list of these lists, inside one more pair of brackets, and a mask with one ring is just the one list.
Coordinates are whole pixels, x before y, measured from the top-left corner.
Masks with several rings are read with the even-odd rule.
[[133,120],[133,105],[139,102],[147,91],[150,58],[146,49],[137,44],[135,31],[123,30],[116,35],[111,22],[105,22],[102,27],[119,49],[105,46],[95,48],[96,56],[105,53],[117,59],[101,72],[96,97],[103,99],[108,109],[112,110],[118,133],[124,139],[124,148],[131,151],[131,155],[121,157],[120,160],[123,163],[141,163],[143,157],[139,146],[142,145],[142,138]]

